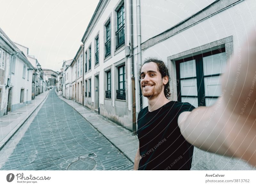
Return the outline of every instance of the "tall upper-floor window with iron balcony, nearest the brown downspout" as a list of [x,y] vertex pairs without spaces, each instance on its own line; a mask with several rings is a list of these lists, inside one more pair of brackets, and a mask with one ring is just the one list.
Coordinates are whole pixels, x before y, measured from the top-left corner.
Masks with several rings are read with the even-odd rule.
[[116,49],[124,45],[124,4],[116,11],[117,13],[117,31],[116,31]]

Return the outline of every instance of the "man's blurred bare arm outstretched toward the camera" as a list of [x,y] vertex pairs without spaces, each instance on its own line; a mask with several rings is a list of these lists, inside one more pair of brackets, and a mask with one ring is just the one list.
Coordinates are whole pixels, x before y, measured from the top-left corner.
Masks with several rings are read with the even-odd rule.
[[178,124],[196,147],[256,166],[256,32],[234,52],[222,76],[222,95],[210,107],[182,112]]

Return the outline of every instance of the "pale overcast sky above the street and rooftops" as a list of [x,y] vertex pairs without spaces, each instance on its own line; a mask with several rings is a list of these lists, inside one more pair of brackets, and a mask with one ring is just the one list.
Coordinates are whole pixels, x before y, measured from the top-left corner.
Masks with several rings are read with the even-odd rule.
[[75,57],[99,0],[0,0],[0,27],[29,48],[42,68],[60,71]]

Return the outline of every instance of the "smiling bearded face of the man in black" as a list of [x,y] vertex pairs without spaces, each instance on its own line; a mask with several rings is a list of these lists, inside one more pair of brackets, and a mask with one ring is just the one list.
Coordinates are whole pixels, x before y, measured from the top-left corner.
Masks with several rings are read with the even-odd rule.
[[140,87],[144,97],[152,99],[164,91],[163,78],[155,62],[144,64],[141,68],[140,76]]

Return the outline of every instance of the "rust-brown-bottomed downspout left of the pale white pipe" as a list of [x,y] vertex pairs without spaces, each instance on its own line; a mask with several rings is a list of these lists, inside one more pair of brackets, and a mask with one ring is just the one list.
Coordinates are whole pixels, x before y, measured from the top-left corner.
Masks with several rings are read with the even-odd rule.
[[136,100],[135,100],[135,77],[134,77],[134,56],[133,56],[133,21],[132,21],[132,0],[130,0],[130,21],[131,21],[131,60],[132,60],[132,135],[137,134],[136,131]]

